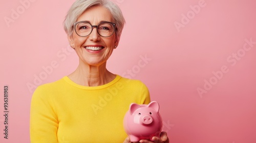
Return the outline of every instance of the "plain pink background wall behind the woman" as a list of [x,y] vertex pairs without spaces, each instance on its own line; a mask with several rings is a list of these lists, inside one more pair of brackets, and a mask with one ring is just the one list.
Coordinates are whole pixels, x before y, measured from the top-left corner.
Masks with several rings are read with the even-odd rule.
[[[108,68],[147,85],[160,103],[170,142],[256,142],[256,1],[113,1],[126,25]],[[0,2],[0,142],[30,142],[34,88],[27,84],[52,82],[76,68],[78,58],[62,28],[73,2]],[[8,140],[4,85],[9,85]]]

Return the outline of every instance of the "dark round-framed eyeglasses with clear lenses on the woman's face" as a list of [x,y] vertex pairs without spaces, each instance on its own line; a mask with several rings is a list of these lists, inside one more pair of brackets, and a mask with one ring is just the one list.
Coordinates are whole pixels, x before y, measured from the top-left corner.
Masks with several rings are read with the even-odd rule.
[[108,21],[100,22],[97,26],[92,26],[87,21],[79,21],[74,23],[75,31],[78,36],[86,37],[90,35],[95,27],[102,37],[110,37],[115,32],[116,24]]

